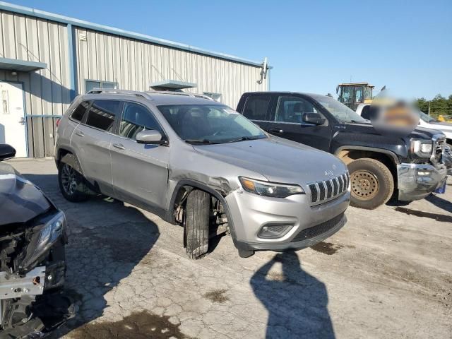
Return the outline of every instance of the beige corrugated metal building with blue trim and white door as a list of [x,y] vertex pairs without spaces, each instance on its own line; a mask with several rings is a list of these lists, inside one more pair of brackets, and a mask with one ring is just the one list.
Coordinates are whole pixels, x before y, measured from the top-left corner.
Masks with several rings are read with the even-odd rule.
[[268,84],[266,61],[0,1],[0,143],[17,157],[54,155],[55,121],[91,88],[183,89],[234,108]]

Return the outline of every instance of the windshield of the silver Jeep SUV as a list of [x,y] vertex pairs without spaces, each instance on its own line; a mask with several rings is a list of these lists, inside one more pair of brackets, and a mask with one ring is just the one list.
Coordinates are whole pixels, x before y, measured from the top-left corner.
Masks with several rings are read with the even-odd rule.
[[198,145],[267,138],[242,114],[222,105],[160,105],[172,129],[182,140]]

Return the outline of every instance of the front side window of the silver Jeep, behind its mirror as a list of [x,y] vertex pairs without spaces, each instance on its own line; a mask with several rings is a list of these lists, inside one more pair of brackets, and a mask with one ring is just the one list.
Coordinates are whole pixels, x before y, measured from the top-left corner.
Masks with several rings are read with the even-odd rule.
[[136,135],[143,129],[162,131],[157,120],[148,109],[134,102],[126,102],[119,125],[119,135],[136,139]]

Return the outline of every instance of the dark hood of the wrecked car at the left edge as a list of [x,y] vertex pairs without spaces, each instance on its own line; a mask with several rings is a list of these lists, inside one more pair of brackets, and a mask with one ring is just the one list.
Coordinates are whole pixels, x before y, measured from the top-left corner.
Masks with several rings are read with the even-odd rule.
[[0,226],[27,222],[52,207],[40,189],[3,163],[0,163],[0,206]]

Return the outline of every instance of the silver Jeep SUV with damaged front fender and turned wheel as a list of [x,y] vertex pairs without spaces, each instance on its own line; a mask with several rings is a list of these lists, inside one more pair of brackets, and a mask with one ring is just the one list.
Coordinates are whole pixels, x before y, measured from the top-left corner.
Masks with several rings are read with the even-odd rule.
[[105,194],[182,225],[190,258],[225,232],[242,257],[312,246],[343,227],[350,201],[338,158],[189,93],[78,96],[59,121],[55,160],[66,199]]

